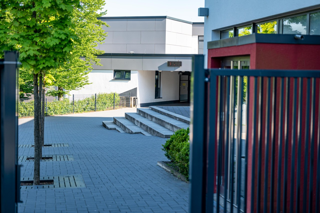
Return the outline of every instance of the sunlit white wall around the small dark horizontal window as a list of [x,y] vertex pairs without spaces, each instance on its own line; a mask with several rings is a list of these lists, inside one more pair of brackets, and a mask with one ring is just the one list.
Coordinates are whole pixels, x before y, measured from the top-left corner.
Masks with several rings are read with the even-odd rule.
[[89,74],[92,84],[79,90],[71,90],[69,94],[123,93],[138,86],[138,71],[131,70],[131,80],[113,80],[113,70],[92,70]]

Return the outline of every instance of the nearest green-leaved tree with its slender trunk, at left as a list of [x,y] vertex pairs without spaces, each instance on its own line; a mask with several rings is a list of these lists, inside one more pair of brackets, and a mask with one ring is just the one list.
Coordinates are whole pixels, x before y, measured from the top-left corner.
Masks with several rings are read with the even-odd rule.
[[[0,49],[18,50],[22,67],[33,74],[35,185],[40,184],[40,149],[42,149],[40,146],[42,110],[38,80],[42,84],[46,71],[59,67],[72,51],[76,40],[71,22],[75,5],[79,5],[78,0],[2,0],[0,2],[2,20]],[[42,86],[40,88],[42,90]]]

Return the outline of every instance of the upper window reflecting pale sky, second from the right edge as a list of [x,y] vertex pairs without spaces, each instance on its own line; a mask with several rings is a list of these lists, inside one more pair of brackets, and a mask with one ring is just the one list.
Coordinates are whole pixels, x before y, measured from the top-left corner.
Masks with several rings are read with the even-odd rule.
[[307,15],[296,16],[283,20],[283,34],[307,34]]

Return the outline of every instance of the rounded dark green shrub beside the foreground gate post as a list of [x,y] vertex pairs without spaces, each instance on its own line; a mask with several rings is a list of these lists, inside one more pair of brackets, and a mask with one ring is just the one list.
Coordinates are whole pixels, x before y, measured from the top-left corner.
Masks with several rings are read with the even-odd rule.
[[189,176],[189,128],[176,131],[163,146],[165,156],[171,160],[179,172],[188,179]]

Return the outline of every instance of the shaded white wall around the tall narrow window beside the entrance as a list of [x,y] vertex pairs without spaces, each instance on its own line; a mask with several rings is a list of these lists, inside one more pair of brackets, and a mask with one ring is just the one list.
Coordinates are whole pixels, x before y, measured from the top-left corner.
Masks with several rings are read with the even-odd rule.
[[155,99],[155,71],[138,70],[139,103],[179,100],[179,72],[161,72],[162,98]]

